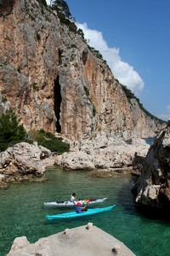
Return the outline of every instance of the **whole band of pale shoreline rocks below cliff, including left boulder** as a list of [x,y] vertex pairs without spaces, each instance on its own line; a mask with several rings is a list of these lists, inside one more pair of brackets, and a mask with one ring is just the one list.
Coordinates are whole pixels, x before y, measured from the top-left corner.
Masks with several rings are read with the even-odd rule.
[[49,166],[70,171],[87,170],[96,177],[110,177],[115,173],[139,175],[150,147],[142,139],[126,143],[121,137],[105,136],[67,142],[71,144],[70,152],[59,155],[37,143],[18,143],[0,153],[0,188],[22,180],[42,181]]

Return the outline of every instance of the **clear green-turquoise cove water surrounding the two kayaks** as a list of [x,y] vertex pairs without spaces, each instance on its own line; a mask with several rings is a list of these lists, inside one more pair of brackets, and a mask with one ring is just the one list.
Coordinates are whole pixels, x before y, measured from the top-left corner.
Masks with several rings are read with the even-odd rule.
[[[9,252],[15,237],[26,236],[28,241],[35,242],[88,222],[124,242],[137,256],[170,255],[170,221],[147,218],[133,206],[131,188],[136,177],[96,178],[91,177],[90,172],[65,172],[54,168],[48,169],[46,177],[45,182],[15,183],[0,190],[1,256]],[[68,212],[69,209],[44,209],[42,202],[69,199],[72,192],[86,199],[108,197],[95,207],[113,204],[116,207],[111,212],[48,223],[46,214]]]

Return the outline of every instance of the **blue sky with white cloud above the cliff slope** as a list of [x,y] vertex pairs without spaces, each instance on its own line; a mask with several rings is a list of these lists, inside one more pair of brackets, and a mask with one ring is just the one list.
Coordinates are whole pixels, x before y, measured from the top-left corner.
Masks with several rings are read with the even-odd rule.
[[170,119],[170,0],[65,2],[116,79],[151,114]]

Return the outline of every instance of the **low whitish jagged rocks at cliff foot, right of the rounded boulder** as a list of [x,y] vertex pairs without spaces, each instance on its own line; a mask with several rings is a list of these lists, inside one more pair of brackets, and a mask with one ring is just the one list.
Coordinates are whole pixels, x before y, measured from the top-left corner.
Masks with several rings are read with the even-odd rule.
[[71,142],[71,150],[56,156],[55,166],[68,170],[139,170],[150,145],[144,139],[126,142],[122,137],[100,135],[91,140]]

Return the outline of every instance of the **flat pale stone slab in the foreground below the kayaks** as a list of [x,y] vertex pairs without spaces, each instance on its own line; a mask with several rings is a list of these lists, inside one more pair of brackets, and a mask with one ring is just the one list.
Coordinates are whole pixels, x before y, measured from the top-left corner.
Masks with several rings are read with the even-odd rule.
[[53,236],[41,238],[34,244],[26,236],[14,240],[7,256],[134,256],[121,241],[100,230],[93,224],[65,230]]

